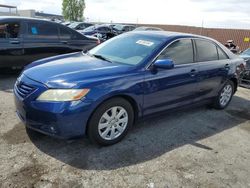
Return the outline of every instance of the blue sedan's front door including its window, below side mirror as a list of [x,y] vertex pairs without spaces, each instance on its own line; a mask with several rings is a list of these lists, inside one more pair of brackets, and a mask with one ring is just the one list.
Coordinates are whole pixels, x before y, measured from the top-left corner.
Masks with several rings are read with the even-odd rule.
[[174,68],[147,70],[144,115],[190,104],[197,97],[199,66],[194,62],[193,49],[191,39],[177,40],[158,57],[172,59]]

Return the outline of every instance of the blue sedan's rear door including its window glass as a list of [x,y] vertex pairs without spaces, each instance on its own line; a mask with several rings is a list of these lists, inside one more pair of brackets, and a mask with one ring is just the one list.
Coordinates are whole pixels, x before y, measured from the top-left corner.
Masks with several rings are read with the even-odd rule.
[[196,100],[217,95],[229,71],[229,58],[213,41],[194,39],[196,62],[199,64],[200,97]]

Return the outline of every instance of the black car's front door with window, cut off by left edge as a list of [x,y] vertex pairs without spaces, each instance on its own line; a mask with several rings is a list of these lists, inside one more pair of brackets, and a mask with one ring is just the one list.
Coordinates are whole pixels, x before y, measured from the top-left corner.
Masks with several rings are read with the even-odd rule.
[[20,21],[0,23],[0,68],[23,66],[23,29]]

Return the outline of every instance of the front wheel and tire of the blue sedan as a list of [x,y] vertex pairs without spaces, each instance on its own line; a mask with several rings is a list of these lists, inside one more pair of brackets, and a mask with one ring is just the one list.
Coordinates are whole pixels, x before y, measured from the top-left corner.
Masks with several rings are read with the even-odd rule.
[[91,116],[87,134],[93,143],[108,146],[121,141],[134,123],[134,110],[123,98],[101,104]]

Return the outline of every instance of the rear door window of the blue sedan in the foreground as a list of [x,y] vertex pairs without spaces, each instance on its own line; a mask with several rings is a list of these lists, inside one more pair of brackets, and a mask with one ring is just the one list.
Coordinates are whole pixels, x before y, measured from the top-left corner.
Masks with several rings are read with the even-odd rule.
[[197,61],[214,61],[218,60],[217,47],[210,41],[195,40],[197,49]]

